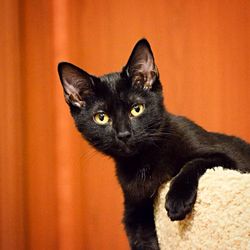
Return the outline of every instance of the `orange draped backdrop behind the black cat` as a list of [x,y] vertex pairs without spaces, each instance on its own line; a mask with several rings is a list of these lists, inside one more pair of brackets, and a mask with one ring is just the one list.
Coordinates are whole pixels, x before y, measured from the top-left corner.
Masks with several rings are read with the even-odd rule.
[[113,162],[77,133],[57,63],[120,70],[150,41],[168,110],[250,141],[250,1],[2,0],[0,245],[128,249]]

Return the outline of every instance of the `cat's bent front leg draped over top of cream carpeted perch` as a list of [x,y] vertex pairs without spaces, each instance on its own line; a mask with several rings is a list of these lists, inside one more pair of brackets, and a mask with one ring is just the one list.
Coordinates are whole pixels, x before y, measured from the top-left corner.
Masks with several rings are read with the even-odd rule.
[[165,208],[172,221],[183,220],[191,212],[197,196],[199,178],[216,166],[234,168],[234,162],[224,154],[214,154],[187,162],[172,179],[166,195]]

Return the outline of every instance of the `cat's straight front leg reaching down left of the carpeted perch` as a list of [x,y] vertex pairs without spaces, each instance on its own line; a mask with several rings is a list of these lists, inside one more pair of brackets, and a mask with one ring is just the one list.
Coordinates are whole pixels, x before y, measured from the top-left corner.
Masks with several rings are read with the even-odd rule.
[[154,223],[153,200],[125,200],[123,219],[131,250],[159,250]]

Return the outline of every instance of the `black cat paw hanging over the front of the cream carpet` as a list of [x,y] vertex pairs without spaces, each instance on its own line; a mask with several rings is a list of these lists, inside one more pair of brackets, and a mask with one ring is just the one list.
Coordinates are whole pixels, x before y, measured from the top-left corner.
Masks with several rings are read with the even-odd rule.
[[174,182],[166,195],[165,208],[171,221],[183,220],[192,211],[196,200],[196,188]]

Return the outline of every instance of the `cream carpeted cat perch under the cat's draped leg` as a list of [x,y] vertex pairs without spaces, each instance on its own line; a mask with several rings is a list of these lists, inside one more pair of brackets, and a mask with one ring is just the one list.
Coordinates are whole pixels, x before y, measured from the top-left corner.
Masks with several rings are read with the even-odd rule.
[[250,174],[215,168],[200,179],[197,201],[183,221],[165,210],[169,184],[159,191],[155,223],[161,250],[250,250]]

